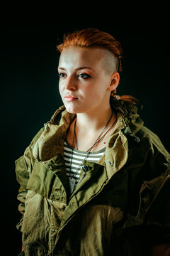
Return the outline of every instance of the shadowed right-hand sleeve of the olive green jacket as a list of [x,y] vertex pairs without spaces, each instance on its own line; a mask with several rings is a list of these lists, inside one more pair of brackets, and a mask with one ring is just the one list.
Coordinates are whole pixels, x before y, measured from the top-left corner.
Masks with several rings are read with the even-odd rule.
[[147,159],[147,178],[140,191],[153,245],[170,244],[170,155],[156,135]]

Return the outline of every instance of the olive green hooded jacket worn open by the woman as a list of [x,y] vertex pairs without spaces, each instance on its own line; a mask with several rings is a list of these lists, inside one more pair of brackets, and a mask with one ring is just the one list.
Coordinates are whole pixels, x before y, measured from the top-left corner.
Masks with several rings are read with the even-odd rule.
[[170,155],[137,107],[111,102],[118,122],[98,163],[84,161],[69,195],[63,145],[74,114],[60,107],[16,160],[26,256],[149,255],[170,243]]

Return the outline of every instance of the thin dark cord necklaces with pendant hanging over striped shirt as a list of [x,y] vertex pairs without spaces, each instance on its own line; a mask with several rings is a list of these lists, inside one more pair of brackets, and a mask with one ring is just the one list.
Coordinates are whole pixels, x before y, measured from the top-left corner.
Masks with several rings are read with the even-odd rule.
[[[113,117],[113,110],[112,110],[112,114],[111,117],[108,119],[108,122],[106,124],[106,126],[103,128],[103,130],[101,131],[101,133],[99,134],[98,138],[96,139],[96,142],[94,142],[94,144],[86,151],[87,154],[84,157],[84,160],[81,162],[81,164],[79,165],[79,167],[77,168],[76,172],[74,173],[74,175],[72,177],[69,177],[69,191],[72,194],[72,192],[74,191],[75,188],[75,183],[76,183],[76,179],[74,178],[78,171],[81,169],[81,166],[83,164],[83,162],[89,157],[89,154],[91,153],[91,149],[93,149],[98,143],[101,142],[101,140],[106,136],[106,134],[111,130],[111,128],[113,127],[113,125],[115,124],[115,122],[117,122],[117,119],[115,119],[115,122],[113,122],[113,124],[111,125],[111,127],[108,128],[108,130],[105,132],[106,128],[108,127],[109,122],[111,122],[111,118]],[[74,138],[76,140],[76,149],[78,150],[78,146],[77,146],[77,134],[76,134],[76,124],[77,124],[77,119],[75,120],[74,123],[74,136],[73,136],[73,142],[72,142],[72,146],[74,146]],[[105,133],[104,133],[105,132]],[[104,133],[104,134],[103,134]],[[102,135],[103,134],[103,135]],[[73,158],[73,149],[72,149],[72,155],[71,155],[71,160],[70,160],[70,170],[72,169],[72,158]]]

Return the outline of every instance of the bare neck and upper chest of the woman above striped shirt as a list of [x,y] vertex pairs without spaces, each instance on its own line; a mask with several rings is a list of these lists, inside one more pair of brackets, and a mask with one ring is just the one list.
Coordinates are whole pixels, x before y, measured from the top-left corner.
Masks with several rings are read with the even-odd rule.
[[103,134],[108,131],[92,151],[103,149],[108,137],[113,133],[116,119],[117,115],[110,105],[100,108],[96,112],[77,113],[77,117],[67,130],[67,142],[74,148],[87,151],[94,145],[101,133],[101,137],[103,137]]

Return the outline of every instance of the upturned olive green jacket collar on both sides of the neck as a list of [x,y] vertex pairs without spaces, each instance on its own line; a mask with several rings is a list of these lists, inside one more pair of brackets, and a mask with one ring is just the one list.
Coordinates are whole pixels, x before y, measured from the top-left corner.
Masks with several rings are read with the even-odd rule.
[[[128,159],[128,140],[124,131],[128,127],[132,134],[138,132],[142,125],[142,119],[137,114],[137,107],[130,102],[111,99],[111,106],[117,112],[117,123],[108,144],[104,162],[108,170],[108,176],[118,171]],[[75,114],[70,114],[65,107],[60,107],[49,122],[45,124],[45,130],[33,147],[35,159],[47,162],[53,159],[57,154],[63,155],[63,144]]]

